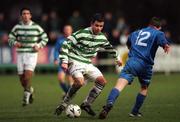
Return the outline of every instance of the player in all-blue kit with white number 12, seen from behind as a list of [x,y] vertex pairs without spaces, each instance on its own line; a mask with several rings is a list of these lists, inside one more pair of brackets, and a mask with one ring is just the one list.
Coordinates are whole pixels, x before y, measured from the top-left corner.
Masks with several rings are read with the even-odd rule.
[[139,112],[148,91],[152,77],[154,58],[158,47],[162,47],[165,53],[169,53],[170,46],[161,29],[159,18],[153,17],[149,26],[137,30],[129,35],[127,46],[129,48],[129,59],[119,75],[115,87],[111,90],[107,104],[99,114],[100,119],[105,119],[112,109],[117,97],[128,84],[138,77],[141,84],[140,92],[137,94],[135,105],[129,114],[131,117],[141,117]]

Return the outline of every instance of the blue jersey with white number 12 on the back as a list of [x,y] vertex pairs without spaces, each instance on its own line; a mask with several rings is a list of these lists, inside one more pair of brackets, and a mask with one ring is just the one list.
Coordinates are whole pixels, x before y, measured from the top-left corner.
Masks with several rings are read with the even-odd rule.
[[129,58],[138,58],[146,64],[154,65],[154,57],[159,46],[168,44],[162,31],[146,27],[130,34],[127,45],[130,47]]

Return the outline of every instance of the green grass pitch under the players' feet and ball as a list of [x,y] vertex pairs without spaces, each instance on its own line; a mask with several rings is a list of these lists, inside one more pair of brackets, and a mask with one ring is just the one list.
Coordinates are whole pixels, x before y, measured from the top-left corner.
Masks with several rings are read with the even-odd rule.
[[[97,114],[106,102],[111,88],[117,80],[116,74],[105,74],[109,81],[102,94],[93,104]],[[32,79],[35,101],[27,107],[21,106],[22,87],[16,75],[0,76],[0,122],[102,122],[98,117],[90,117],[84,111],[80,118],[70,119],[63,113],[54,116],[54,110],[62,98],[55,74],[38,74]],[[73,103],[81,104],[93,83],[88,83],[78,91]],[[116,101],[107,122],[179,122],[180,121],[180,74],[153,76],[148,97],[141,109],[142,118],[130,118],[128,113],[139,91],[137,80],[128,86]]]

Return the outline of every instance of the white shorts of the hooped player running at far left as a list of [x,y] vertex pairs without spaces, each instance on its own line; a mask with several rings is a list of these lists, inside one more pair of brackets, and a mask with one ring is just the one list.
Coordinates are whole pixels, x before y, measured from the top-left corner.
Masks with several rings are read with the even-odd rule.
[[23,74],[24,70],[34,71],[37,64],[37,53],[17,53],[18,74]]

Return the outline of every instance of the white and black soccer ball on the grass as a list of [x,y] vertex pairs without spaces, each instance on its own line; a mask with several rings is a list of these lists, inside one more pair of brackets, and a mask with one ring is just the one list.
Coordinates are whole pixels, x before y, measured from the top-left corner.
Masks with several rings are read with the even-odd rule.
[[70,118],[77,118],[81,115],[81,109],[78,105],[70,104],[66,108],[66,115]]

